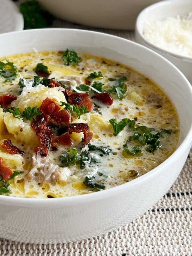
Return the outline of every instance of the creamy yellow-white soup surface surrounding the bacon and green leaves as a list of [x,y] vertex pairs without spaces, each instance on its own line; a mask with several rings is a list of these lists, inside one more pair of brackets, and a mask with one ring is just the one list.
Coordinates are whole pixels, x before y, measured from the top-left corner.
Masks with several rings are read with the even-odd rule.
[[[16,118],[12,113],[4,112],[5,107],[1,108],[0,143],[10,139],[13,145],[24,151],[24,155],[9,154],[5,148],[0,147],[0,157],[4,159],[5,164],[12,170],[20,171],[20,175],[10,180],[11,184],[8,188],[12,193],[6,195],[50,198],[74,196],[111,188],[155,168],[177,147],[179,119],[176,109],[155,83],[111,60],[79,53],[81,61],[78,65],[67,66],[62,60],[62,55],[63,52],[32,52],[1,59],[3,62],[12,61],[18,70],[14,80],[5,81],[6,79],[0,76],[1,95],[9,93],[18,97],[6,108],[16,107],[22,112],[28,106],[40,107],[47,97],[56,99],[61,105],[60,102],[67,102],[62,92],[65,90],[62,84],[67,84],[67,87],[78,93],[85,93],[86,91],[79,90],[80,84],[92,87],[94,82],[98,82],[104,84],[102,89],[106,92],[118,86],[122,77],[125,77],[121,83],[124,86],[124,96],[118,99],[116,90],[110,92],[113,103],[109,105],[92,98],[96,91],[90,90],[90,99],[96,104],[93,110],[81,115],[80,118],[75,118],[70,112],[72,115],[70,122],[88,124],[90,132],[93,133],[91,141],[88,145],[83,145],[84,133],[72,132],[69,134],[72,139],[71,146],[56,143],[57,150],[53,150],[51,146],[46,157],[40,157],[33,149],[39,147],[36,132],[31,127],[34,119]],[[34,68],[38,63],[48,67],[49,79],[62,81],[60,87],[50,88],[42,84],[32,87],[34,76],[37,76]],[[98,74],[99,71],[102,73],[100,77],[87,78],[91,73]],[[20,88],[19,81],[23,78],[27,87]],[[64,107],[65,105],[61,109]],[[114,135],[115,131],[109,120],[116,119],[120,122],[124,118],[135,120],[135,126],[131,128],[127,124],[121,132]],[[147,151],[146,148],[151,147],[151,144],[145,145],[141,140],[133,140],[135,132],[142,133],[135,129],[139,126],[147,126],[152,134],[159,132],[159,139],[157,138],[159,144],[156,150],[149,152],[151,150]],[[56,126],[52,128],[55,132],[52,136],[54,138],[60,136],[56,134]],[[67,131],[67,129],[64,130],[63,133]],[[146,129],[143,131],[146,133]],[[105,154],[97,149],[91,150],[90,144],[108,148],[108,153]],[[89,160],[84,162],[83,167],[82,162],[79,161],[70,162],[67,165],[62,163],[60,156],[63,152],[66,156],[69,148],[77,149],[77,158],[88,152]],[[135,154],[134,148],[138,149]],[[73,156],[74,154],[70,155],[70,157]],[[92,185],[88,185],[85,180],[88,178],[90,181],[91,177],[93,177]]]

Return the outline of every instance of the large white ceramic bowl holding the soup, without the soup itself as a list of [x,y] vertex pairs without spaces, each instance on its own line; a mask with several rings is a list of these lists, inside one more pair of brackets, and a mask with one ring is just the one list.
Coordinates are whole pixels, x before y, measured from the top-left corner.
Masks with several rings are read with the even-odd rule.
[[162,164],[114,188],[52,199],[0,196],[0,237],[29,243],[63,243],[97,236],[131,222],[168,191],[186,161],[192,142],[191,85],[162,56],[116,36],[72,29],[24,30],[0,35],[0,57],[31,52],[33,48],[75,49],[121,62],[145,74],[176,105],[180,140],[176,151]]

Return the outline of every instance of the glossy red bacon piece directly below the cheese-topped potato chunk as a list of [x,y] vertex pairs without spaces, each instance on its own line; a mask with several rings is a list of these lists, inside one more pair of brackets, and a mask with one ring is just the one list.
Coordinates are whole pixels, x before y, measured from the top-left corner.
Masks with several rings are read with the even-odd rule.
[[55,121],[53,121],[53,123],[68,123],[70,118],[68,111],[66,109],[60,110],[60,108],[61,106],[57,102],[47,97],[42,102],[39,110],[42,111],[45,115],[50,116],[50,118]]

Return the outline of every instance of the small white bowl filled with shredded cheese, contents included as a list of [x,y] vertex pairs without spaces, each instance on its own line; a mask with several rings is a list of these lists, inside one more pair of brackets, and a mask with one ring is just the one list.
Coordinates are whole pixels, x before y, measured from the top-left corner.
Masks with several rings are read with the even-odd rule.
[[192,1],[166,0],[140,12],[136,42],[170,60],[192,83]]

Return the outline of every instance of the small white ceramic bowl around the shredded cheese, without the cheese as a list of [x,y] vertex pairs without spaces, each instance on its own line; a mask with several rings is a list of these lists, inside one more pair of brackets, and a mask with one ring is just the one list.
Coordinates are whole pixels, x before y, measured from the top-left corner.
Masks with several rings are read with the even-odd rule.
[[183,72],[183,74],[192,84],[192,58],[163,50],[148,42],[148,40],[146,40],[143,36],[145,22],[163,20],[167,17],[176,17],[178,14],[180,16],[186,16],[189,14],[189,12],[192,12],[191,0],[167,0],[152,4],[144,9],[137,18],[135,27],[135,39],[137,43],[154,50],[155,52],[164,56],[166,59],[170,60],[177,68]]

